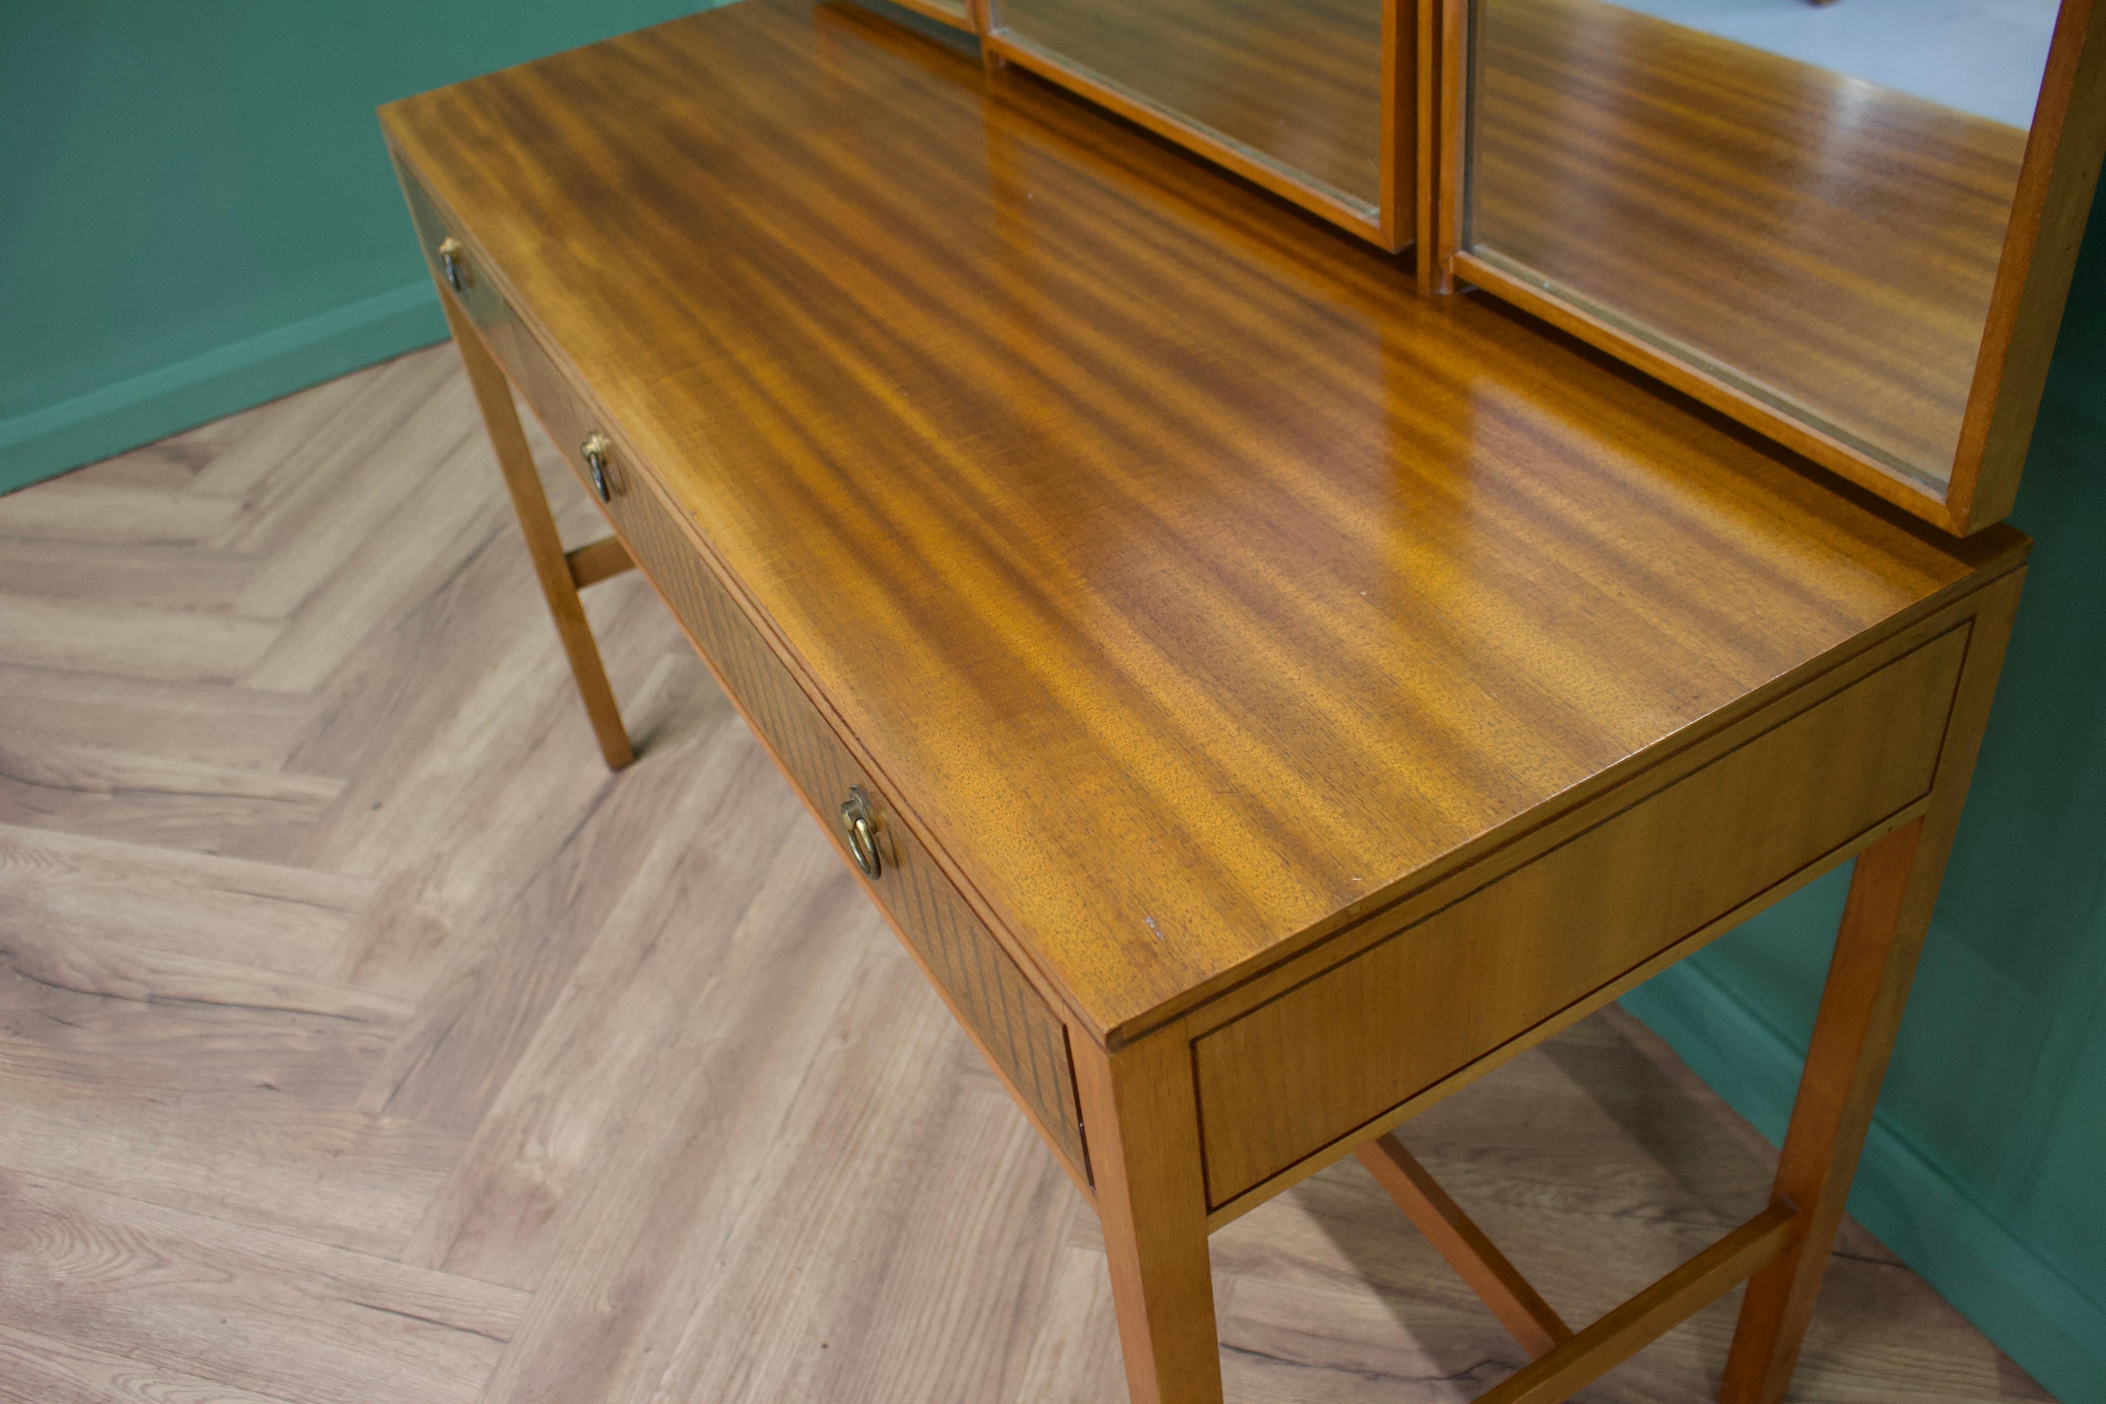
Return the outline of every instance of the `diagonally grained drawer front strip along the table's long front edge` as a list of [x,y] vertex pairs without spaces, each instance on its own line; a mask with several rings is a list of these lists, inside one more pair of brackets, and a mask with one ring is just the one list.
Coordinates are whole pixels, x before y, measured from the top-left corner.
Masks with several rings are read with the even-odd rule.
[[[402,187],[425,259],[434,272],[442,272],[436,248],[449,234],[446,225],[409,171],[402,171]],[[495,286],[472,263],[457,261],[457,267],[461,305],[505,366],[520,398],[548,427],[571,472],[590,490],[579,446],[588,434],[607,425],[594,423],[588,400],[556,368]],[[701,562],[699,549],[674,520],[674,509],[659,490],[623,461],[619,448],[609,469],[611,501],[604,509],[615,533],[672,606],[695,648],[716,667],[760,739],[775,751],[790,783],[804,794],[823,823],[849,798],[851,787],[870,798],[885,857],[882,874],[870,884],[872,895],[920,956],[952,1010],[1032,1111],[1055,1151],[1087,1183],[1089,1158],[1066,1025],[1024,979],[986,924],[973,916],[920,842],[887,813],[882,791]],[[826,827],[838,846],[840,831],[832,823]]]

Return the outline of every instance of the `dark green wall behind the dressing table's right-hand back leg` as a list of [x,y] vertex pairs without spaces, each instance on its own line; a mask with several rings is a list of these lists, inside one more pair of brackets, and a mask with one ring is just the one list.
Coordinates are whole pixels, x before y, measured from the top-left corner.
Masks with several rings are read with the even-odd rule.
[[[2106,196],[2011,520],[2032,573],[1849,1206],[2055,1398],[2106,1404]],[[1771,1141],[1847,886],[1624,1000]]]

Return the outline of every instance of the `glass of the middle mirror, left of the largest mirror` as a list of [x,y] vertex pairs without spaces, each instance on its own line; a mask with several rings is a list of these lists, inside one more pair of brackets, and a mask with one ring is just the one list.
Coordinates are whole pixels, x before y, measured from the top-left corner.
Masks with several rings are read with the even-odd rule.
[[1000,38],[1375,221],[1384,0],[996,0]]

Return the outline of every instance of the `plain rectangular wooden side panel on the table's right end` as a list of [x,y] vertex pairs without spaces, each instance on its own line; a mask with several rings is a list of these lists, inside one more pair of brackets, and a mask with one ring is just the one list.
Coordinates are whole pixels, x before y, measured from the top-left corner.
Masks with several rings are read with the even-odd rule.
[[1961,625],[1194,1040],[1209,1208],[1929,794],[1965,653]]

